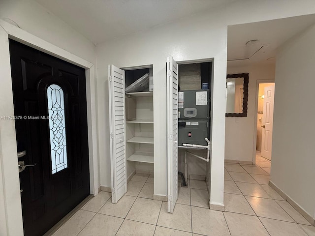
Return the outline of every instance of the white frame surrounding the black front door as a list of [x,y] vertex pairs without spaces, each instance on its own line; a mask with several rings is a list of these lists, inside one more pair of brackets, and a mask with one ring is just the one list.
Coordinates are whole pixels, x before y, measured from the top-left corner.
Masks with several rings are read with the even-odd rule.
[[[13,116],[13,90],[8,39],[85,68],[90,164],[90,193],[98,193],[97,123],[95,101],[95,66],[31,33],[0,20],[0,116]],[[3,168],[4,167],[4,168]],[[20,180],[14,119],[0,119],[0,233],[23,235]]]

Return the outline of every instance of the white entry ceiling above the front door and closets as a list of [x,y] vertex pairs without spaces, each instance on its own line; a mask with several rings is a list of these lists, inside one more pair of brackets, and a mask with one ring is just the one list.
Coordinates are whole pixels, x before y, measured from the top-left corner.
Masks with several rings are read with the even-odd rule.
[[95,44],[234,0],[36,0]]

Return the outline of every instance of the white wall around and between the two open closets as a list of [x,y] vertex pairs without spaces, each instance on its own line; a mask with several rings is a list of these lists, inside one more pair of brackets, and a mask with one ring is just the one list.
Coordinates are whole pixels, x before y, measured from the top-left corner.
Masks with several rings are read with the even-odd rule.
[[[216,19],[219,14],[203,14],[183,19],[145,32],[115,39],[96,46],[98,114],[101,165],[101,185],[110,186],[110,159],[108,136],[108,72],[107,64],[118,67],[153,64],[154,73],[154,154],[155,194],[166,195],[166,58],[173,56],[176,61],[214,58],[214,117],[213,155],[218,156],[216,166],[218,177],[223,177],[225,68],[226,68],[226,27]],[[216,24],[209,22],[216,21]],[[196,27],[198,26],[198,27]],[[222,102],[223,101],[223,102]],[[163,128],[164,127],[164,128]],[[223,190],[222,183],[218,181]],[[215,184],[214,184],[215,185]],[[220,192],[220,191],[213,191]],[[222,193],[219,193],[222,195]],[[222,197],[218,197],[222,202]]]

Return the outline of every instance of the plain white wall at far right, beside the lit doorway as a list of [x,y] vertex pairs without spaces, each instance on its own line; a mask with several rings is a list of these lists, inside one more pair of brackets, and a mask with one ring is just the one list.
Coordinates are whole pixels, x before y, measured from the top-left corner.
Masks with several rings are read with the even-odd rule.
[[271,181],[315,218],[315,26],[291,39],[276,62]]

